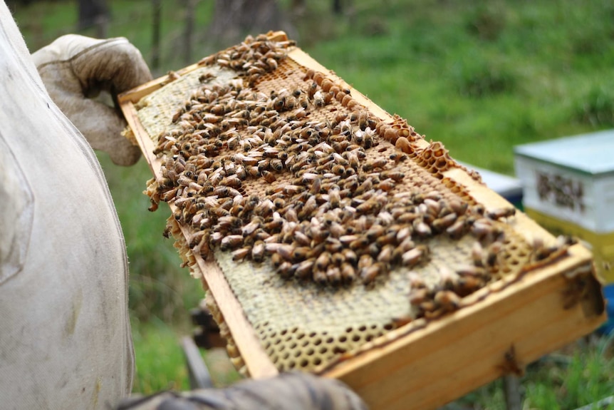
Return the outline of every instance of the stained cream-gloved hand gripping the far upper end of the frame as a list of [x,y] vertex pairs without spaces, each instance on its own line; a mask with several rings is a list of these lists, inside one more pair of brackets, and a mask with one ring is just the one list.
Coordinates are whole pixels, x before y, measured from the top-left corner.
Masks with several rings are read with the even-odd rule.
[[152,79],[135,46],[123,37],[97,40],[68,34],[33,53],[32,59],[53,101],[92,148],[105,151],[118,165],[137,162],[140,149],[120,135],[126,126],[120,111],[92,99],[100,91],[116,96]]

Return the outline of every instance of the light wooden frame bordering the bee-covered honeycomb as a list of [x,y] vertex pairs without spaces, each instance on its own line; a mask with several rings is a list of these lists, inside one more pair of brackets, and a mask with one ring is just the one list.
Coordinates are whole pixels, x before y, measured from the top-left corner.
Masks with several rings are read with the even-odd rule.
[[[285,38],[283,34],[273,36]],[[342,82],[299,48],[291,48],[288,58]],[[132,132],[158,180],[162,163],[152,154],[155,143],[143,128],[135,103],[199,67],[199,64],[189,66],[119,98]],[[358,91],[350,88],[350,94],[379,118],[392,120]],[[424,140],[417,143],[428,145]],[[510,206],[463,168],[450,168],[444,175],[464,186],[486,210]],[[526,240],[536,237],[546,242],[553,240],[521,213],[511,225]],[[189,237],[186,227],[178,229]],[[217,302],[250,376],[263,378],[276,374],[277,368],[261,346],[217,262],[199,255],[192,257],[192,269],[202,274],[203,284]],[[590,254],[583,247],[573,245],[566,257],[536,267],[525,275],[491,283],[465,297],[464,307],[457,312],[432,321],[417,319],[370,340],[352,354],[340,355],[317,371],[346,381],[374,409],[432,408],[502,374],[521,371],[542,354],[595,329],[605,319],[599,302],[603,300],[593,277]]]

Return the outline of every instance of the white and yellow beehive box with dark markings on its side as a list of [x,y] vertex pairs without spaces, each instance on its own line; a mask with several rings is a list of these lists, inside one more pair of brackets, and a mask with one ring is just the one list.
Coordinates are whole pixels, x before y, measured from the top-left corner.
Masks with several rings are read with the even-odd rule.
[[614,281],[614,130],[514,148],[526,213],[553,233],[593,248],[598,272]]

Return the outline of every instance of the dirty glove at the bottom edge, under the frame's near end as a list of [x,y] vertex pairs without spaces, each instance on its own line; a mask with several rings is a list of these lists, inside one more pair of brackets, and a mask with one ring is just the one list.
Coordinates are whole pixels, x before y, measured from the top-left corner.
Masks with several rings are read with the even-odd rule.
[[348,386],[308,373],[282,373],[271,379],[243,381],[227,389],[164,391],[124,399],[117,410],[366,410]]

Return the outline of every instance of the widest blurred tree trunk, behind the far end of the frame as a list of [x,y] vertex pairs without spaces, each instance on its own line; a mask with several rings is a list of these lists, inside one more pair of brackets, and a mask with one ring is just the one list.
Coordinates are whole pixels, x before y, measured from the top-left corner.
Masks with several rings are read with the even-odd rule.
[[247,34],[256,36],[271,30],[283,30],[296,38],[296,31],[276,0],[215,0],[208,41],[230,46]]

